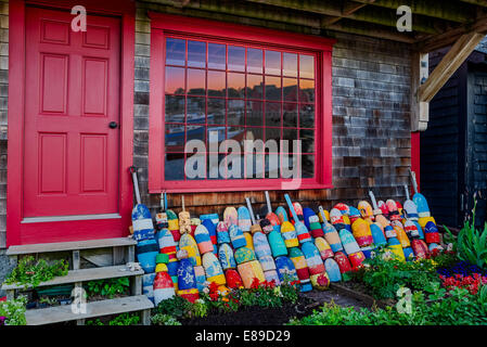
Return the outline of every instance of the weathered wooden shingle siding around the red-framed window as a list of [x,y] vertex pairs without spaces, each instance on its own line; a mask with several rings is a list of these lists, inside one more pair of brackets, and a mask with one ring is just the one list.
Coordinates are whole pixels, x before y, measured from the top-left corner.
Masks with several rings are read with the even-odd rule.
[[[136,97],[133,163],[140,167],[142,202],[153,213],[159,195],[148,194],[149,93],[137,86],[149,81],[145,46],[150,25],[146,10],[163,11],[139,2],[136,33]],[[240,22],[239,22],[240,21]],[[244,20],[235,23],[247,24]],[[290,193],[304,206],[337,202],[357,205],[372,189],[377,198],[405,200],[402,184],[409,183],[411,134],[409,120],[410,61],[406,44],[337,34],[333,49],[333,184],[331,190],[302,190]],[[149,52],[150,53],[150,52]],[[271,191],[272,203],[284,202],[284,191]],[[243,205],[248,196],[260,215],[266,213],[264,192],[216,192],[184,194],[192,216],[222,214],[229,205]],[[180,210],[181,194],[168,194],[169,207]]]

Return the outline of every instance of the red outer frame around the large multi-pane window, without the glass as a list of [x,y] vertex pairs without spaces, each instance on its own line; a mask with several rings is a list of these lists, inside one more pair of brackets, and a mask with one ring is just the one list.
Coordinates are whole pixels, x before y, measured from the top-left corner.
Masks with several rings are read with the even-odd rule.
[[[330,189],[332,185],[332,48],[336,40],[311,35],[300,35],[241,24],[201,20],[172,14],[149,12],[151,17],[151,72],[149,105],[149,192],[215,192],[280,190],[283,179],[242,179],[238,182],[218,181],[165,181],[164,179],[164,35],[182,34],[198,38],[219,38],[232,42],[259,43],[293,50],[313,51],[321,64],[317,78],[317,107],[321,117],[317,119],[317,131],[321,141],[316,155],[320,155],[316,178],[303,179],[298,189]],[[208,183],[209,182],[209,183]],[[217,182],[218,188],[215,188]],[[297,188],[296,188],[297,189]]]

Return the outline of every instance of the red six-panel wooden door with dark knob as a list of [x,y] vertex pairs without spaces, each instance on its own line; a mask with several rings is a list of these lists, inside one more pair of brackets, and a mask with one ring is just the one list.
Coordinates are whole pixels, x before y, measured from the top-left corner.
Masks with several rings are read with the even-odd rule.
[[119,211],[120,22],[73,18],[26,13],[24,221]]

